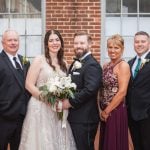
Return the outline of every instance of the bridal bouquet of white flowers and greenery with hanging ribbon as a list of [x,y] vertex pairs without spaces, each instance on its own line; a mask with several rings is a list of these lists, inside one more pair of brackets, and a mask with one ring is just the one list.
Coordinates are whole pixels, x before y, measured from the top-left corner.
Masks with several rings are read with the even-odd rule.
[[65,98],[73,98],[74,92],[76,90],[76,84],[71,81],[71,76],[55,76],[54,78],[49,78],[47,82],[39,87],[42,91],[42,97],[48,103],[52,105],[54,111],[56,110],[56,103],[58,103],[60,112],[57,111],[58,118],[62,120],[63,110],[62,110],[62,100]]

